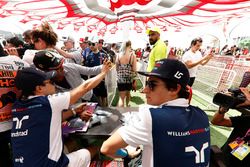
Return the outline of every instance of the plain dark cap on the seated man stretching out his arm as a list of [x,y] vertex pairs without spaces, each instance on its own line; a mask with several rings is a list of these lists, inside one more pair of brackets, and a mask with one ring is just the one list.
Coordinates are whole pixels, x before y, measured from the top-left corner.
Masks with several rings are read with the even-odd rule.
[[52,79],[56,76],[56,71],[43,72],[34,67],[27,67],[17,72],[15,85],[17,89],[23,92],[35,90],[38,85],[43,85],[43,82]]

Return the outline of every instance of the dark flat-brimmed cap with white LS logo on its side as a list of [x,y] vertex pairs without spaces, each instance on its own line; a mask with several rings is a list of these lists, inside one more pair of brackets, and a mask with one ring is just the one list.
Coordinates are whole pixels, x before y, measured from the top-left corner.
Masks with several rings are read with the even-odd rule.
[[162,59],[155,63],[151,72],[138,71],[145,76],[155,76],[158,78],[169,79],[179,83],[182,88],[186,88],[189,82],[189,72],[185,64],[175,59]]

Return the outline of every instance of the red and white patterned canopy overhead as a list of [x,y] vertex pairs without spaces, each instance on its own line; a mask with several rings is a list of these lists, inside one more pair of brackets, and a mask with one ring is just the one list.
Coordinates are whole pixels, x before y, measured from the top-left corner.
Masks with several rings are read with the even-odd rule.
[[250,16],[247,0],[4,0],[0,6],[0,20],[15,18],[34,28],[42,21],[56,24],[57,29],[71,24],[75,31],[86,27],[99,35],[116,33],[122,29],[120,22],[127,20],[140,33],[150,26],[181,31]]

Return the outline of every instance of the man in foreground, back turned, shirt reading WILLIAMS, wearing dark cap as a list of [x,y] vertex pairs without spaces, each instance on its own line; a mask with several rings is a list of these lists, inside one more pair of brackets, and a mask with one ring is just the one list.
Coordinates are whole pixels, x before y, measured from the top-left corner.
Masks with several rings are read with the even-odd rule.
[[178,60],[162,59],[151,72],[138,73],[148,77],[143,92],[154,107],[140,107],[140,120],[118,129],[101,152],[126,157],[122,148],[143,145],[143,167],[209,166],[209,121],[204,111],[188,104],[187,67]]

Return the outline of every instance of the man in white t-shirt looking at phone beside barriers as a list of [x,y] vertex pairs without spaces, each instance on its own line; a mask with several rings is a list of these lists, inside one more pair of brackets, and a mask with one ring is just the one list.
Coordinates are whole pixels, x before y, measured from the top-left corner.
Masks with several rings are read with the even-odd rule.
[[191,42],[190,49],[187,52],[185,52],[182,57],[182,62],[186,64],[190,74],[190,80],[188,83],[190,87],[192,87],[194,83],[198,71],[198,66],[207,64],[208,61],[213,57],[212,53],[209,53],[208,55],[202,57],[202,54],[199,51],[201,45],[202,45],[201,38],[193,39]]

